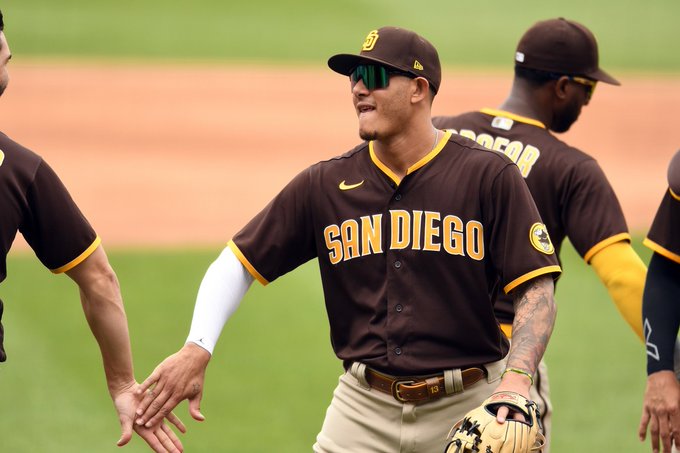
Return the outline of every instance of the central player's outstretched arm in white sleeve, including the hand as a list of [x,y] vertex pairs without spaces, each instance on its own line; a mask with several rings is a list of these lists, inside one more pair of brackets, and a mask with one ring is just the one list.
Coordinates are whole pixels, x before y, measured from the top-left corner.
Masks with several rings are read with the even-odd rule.
[[187,343],[158,365],[138,389],[140,396],[149,390],[137,409],[138,425],[155,426],[185,399],[191,416],[205,420],[200,411],[205,370],[224,324],[253,280],[229,247],[210,265],[196,296]]

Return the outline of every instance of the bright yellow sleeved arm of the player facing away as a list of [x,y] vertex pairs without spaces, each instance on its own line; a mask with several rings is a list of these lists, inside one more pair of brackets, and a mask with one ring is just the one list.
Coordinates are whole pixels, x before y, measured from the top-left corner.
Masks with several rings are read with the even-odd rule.
[[637,336],[642,334],[642,292],[647,268],[629,242],[615,242],[591,259],[595,273],[604,283],[619,313]]

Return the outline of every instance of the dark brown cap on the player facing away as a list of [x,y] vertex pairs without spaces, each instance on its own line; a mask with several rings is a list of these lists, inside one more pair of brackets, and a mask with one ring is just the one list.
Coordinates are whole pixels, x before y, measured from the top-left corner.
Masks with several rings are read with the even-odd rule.
[[536,22],[524,33],[515,52],[515,65],[621,85],[600,69],[592,32],[562,17]]

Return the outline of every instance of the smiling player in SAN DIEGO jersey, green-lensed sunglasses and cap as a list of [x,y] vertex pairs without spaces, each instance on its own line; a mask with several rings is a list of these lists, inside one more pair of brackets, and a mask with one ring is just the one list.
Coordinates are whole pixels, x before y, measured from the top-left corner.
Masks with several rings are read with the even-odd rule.
[[[373,30],[360,54],[328,65],[349,77],[365,142],[302,171],[233,237],[204,277],[187,344],[142,384],[153,393],[139,423],[185,398],[202,420],[205,369],[251,282],[315,258],[346,370],[315,451],[442,451],[496,388],[528,396],[560,268],[517,166],[433,127],[441,68],[416,33]],[[498,292],[521,313],[509,353]]]

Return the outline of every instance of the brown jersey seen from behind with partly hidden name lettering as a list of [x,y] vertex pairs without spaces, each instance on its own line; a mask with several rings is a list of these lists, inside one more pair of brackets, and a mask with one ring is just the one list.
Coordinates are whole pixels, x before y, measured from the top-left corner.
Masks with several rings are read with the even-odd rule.
[[[433,123],[476,140],[515,162],[550,232],[558,257],[567,237],[586,262],[607,245],[630,241],[621,205],[597,161],[559,140],[541,122],[483,109],[435,117]],[[501,322],[511,324],[512,300],[501,298],[496,313]]]

